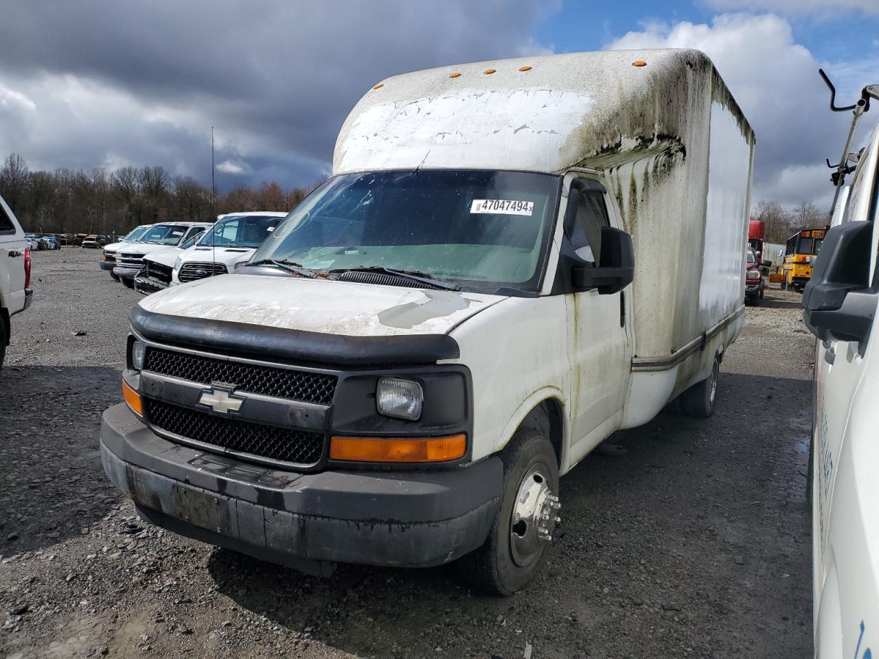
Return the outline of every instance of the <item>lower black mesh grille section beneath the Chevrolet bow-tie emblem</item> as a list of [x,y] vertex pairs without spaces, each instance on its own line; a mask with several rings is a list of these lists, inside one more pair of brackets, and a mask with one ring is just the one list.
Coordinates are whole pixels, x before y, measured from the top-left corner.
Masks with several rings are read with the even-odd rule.
[[[145,399],[147,420],[159,431],[258,458],[309,467],[323,455],[324,436],[215,416],[196,409]],[[209,449],[207,449],[209,450]]]

